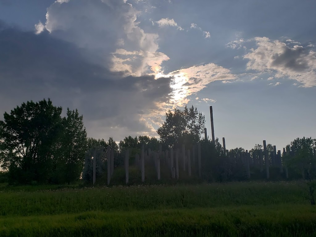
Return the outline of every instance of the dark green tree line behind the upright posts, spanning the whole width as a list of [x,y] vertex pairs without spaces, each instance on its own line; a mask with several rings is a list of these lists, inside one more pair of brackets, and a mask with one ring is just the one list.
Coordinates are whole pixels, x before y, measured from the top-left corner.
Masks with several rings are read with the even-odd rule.
[[[62,107],[53,106],[52,101],[27,101],[4,113],[0,121],[0,163],[10,183],[55,183],[64,184],[83,179],[91,182],[93,175],[92,156],[96,159],[96,177],[106,172],[107,147],[114,150],[114,167],[123,166],[125,149],[130,157],[145,150],[181,148],[192,149],[193,144],[201,144],[202,176],[206,181],[233,181],[246,179],[242,162],[232,162],[231,157],[244,152],[235,148],[225,154],[219,139],[214,142],[203,137],[205,117],[194,106],[175,108],[166,112],[166,120],[157,129],[159,139],[148,136],[125,137],[115,142],[112,137],[107,141],[87,137],[83,116],[78,110],[67,108],[62,117]],[[305,170],[306,178],[314,179],[316,171],[316,140],[297,138],[287,146],[284,164],[296,173]],[[258,159],[262,145],[256,144],[249,150],[251,159]],[[269,162],[273,146],[267,144]],[[211,159],[210,159],[211,157]],[[305,167],[305,168],[304,168]],[[1,175],[0,175],[1,176]]]

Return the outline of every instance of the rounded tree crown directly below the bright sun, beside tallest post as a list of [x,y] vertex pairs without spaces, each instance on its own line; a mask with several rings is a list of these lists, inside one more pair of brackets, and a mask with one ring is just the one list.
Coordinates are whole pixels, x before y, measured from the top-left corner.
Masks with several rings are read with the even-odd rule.
[[168,110],[166,121],[157,129],[162,143],[168,147],[179,146],[180,144],[192,145],[201,139],[204,133],[205,117],[191,106],[184,110],[178,108],[174,112]]

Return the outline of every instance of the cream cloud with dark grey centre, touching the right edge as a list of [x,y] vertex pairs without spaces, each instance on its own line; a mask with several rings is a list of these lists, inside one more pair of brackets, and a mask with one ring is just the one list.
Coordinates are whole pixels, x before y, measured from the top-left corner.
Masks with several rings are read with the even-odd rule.
[[296,80],[302,87],[316,86],[316,52],[266,37],[256,37],[255,42],[257,47],[244,55],[248,70]]

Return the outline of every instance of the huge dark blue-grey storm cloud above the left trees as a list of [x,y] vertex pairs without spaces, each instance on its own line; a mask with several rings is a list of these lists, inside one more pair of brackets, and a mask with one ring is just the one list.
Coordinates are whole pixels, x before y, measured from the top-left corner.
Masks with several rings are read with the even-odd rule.
[[[6,27],[0,31],[0,52],[1,113],[23,101],[50,97],[55,105],[78,108],[88,135],[115,138],[150,132],[139,111],[169,101],[170,78],[111,72],[88,62],[85,50],[48,32]],[[113,127],[125,128],[125,134],[111,134]]]

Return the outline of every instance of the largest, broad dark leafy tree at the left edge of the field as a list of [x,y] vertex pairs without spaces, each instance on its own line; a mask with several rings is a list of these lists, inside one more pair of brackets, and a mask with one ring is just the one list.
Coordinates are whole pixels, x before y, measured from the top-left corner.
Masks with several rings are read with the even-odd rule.
[[4,113],[0,121],[0,161],[12,180],[44,181],[52,174],[52,147],[60,146],[61,107],[32,100]]

